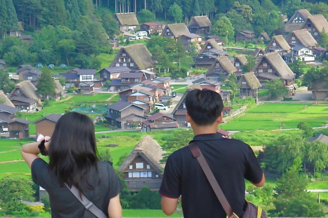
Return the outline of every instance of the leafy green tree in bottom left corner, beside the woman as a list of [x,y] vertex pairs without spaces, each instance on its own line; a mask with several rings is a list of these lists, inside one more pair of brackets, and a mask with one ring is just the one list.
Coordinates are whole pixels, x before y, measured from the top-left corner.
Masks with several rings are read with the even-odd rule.
[[5,176],[0,179],[0,204],[9,212],[25,209],[22,200],[33,201],[30,178]]

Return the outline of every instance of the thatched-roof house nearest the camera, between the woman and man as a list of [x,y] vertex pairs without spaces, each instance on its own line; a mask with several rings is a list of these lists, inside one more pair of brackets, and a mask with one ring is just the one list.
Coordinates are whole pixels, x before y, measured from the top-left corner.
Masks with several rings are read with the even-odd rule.
[[165,153],[152,136],[147,135],[140,140],[118,168],[124,173],[123,178],[130,191],[140,191],[143,186],[159,190],[165,167],[160,161]]

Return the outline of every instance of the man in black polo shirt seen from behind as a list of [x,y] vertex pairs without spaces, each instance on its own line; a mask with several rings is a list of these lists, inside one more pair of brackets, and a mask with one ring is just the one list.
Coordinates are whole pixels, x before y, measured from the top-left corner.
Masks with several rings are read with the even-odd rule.
[[[186,119],[194,139],[210,166],[233,211],[242,217],[245,209],[245,179],[262,187],[264,174],[251,147],[217,133],[223,101],[211,90],[190,91],[186,96]],[[205,174],[188,147],[171,154],[166,162],[159,193],[162,210],[172,215],[181,196],[185,218],[226,218]]]

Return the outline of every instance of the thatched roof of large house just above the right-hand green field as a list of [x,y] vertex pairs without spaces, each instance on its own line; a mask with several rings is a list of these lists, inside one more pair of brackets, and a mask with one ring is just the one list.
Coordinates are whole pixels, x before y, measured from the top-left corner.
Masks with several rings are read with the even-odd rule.
[[[277,74],[283,78],[293,78],[295,74],[286,64],[286,62],[282,59],[278,52],[271,52],[265,55],[262,55],[261,58],[258,60],[257,64],[253,68],[253,71],[257,68],[257,66],[261,63],[262,59],[265,58],[267,62],[274,68]],[[271,75],[271,74],[268,74]]]

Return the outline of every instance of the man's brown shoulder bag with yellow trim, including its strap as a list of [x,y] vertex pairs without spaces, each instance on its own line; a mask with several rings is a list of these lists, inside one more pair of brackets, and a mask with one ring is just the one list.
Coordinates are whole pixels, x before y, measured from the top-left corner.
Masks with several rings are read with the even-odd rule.
[[[219,200],[220,204],[222,205],[222,208],[227,214],[228,218],[239,218],[236,213],[233,212],[227,198],[224,196],[218,182],[216,181],[213,172],[211,171],[208,163],[206,162],[202,152],[199,150],[197,144],[195,142],[191,142],[188,145],[188,148],[190,149],[193,156],[197,159],[200,167],[202,168],[203,172],[205,173],[205,176],[207,180],[209,181],[213,191],[215,192],[215,195],[217,199]],[[242,218],[267,218],[265,211],[262,210],[260,207],[255,206],[254,204],[247,202],[247,207],[244,212],[244,215]]]

